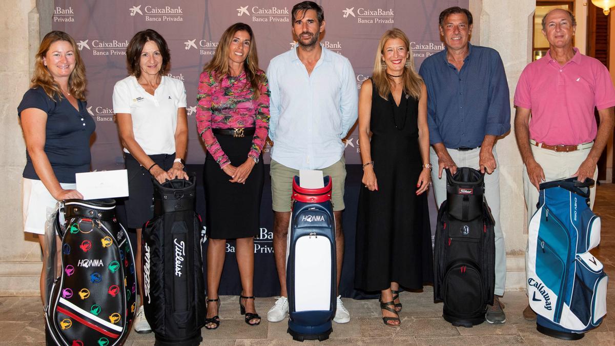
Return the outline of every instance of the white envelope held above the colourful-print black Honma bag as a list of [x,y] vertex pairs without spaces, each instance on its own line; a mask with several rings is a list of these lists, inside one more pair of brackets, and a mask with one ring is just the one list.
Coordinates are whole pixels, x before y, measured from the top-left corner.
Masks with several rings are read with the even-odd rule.
[[75,179],[83,199],[128,196],[128,171],[125,169],[77,173]]

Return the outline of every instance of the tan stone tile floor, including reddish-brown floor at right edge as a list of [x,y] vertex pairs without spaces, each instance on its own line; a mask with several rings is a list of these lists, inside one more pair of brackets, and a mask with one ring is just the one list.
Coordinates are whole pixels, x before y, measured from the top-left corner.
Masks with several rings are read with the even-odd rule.
[[[602,218],[600,247],[593,250],[605,265],[606,272],[615,277],[615,185],[598,187],[595,212]],[[522,310],[527,304],[525,292],[506,292],[507,321],[500,325],[483,323],[474,328],[456,328],[441,317],[442,304],[432,303],[432,289],[424,292],[402,292],[402,326],[384,326],[376,300],[343,299],[352,319],[346,324],[333,324],[333,333],[322,344],[329,345],[517,345],[517,344],[583,344],[615,345],[615,288],[608,289],[608,308],[611,312],[597,329],[579,341],[566,342],[544,336],[536,331],[536,323],[525,321]],[[221,297],[220,328],[202,329],[201,345],[287,345],[293,344],[287,334],[287,321],[250,327],[239,315],[236,296]],[[266,315],[273,298],[256,300],[256,310]],[[0,346],[44,345],[44,323],[39,297],[0,297]],[[611,331],[613,329],[613,331]],[[125,345],[152,345],[153,334],[132,332]],[[318,344],[306,341],[305,344]],[[295,343],[297,344],[297,343]]]

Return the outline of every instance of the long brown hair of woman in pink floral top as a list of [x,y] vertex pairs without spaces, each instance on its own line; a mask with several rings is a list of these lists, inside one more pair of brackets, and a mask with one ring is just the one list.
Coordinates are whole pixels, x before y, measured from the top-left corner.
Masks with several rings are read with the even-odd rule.
[[258,68],[258,54],[256,54],[256,40],[250,25],[234,23],[224,30],[212,60],[203,67],[203,71],[215,72],[216,81],[220,81],[224,76],[230,75],[231,68],[229,67],[228,52],[231,41],[237,31],[247,31],[250,35],[250,51],[244,61],[244,71],[253,91],[252,99],[258,99],[261,95],[259,88],[263,82],[264,74],[258,74],[260,69]]

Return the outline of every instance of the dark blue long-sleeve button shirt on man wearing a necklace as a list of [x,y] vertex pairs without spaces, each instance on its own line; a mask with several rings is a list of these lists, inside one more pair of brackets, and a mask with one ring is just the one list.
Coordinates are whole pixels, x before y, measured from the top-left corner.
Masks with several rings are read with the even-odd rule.
[[475,148],[485,135],[510,130],[510,95],[498,52],[468,43],[461,71],[448,62],[446,48],[419,70],[427,87],[429,142],[446,148]]

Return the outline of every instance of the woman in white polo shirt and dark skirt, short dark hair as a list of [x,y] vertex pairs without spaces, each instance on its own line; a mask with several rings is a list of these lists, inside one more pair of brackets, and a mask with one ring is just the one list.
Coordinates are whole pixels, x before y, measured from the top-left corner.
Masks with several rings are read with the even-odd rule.
[[[140,31],[126,49],[129,76],[113,89],[113,110],[124,147],[129,177],[124,225],[137,230],[135,262],[141,278],[141,227],[153,217],[154,187],[176,177],[188,179],[183,171],[188,123],[186,89],[177,79],[165,76],[170,54],[167,42],[154,30]],[[141,292],[139,284],[139,293]],[[151,332],[143,314],[143,300],[135,318],[135,331]]]

